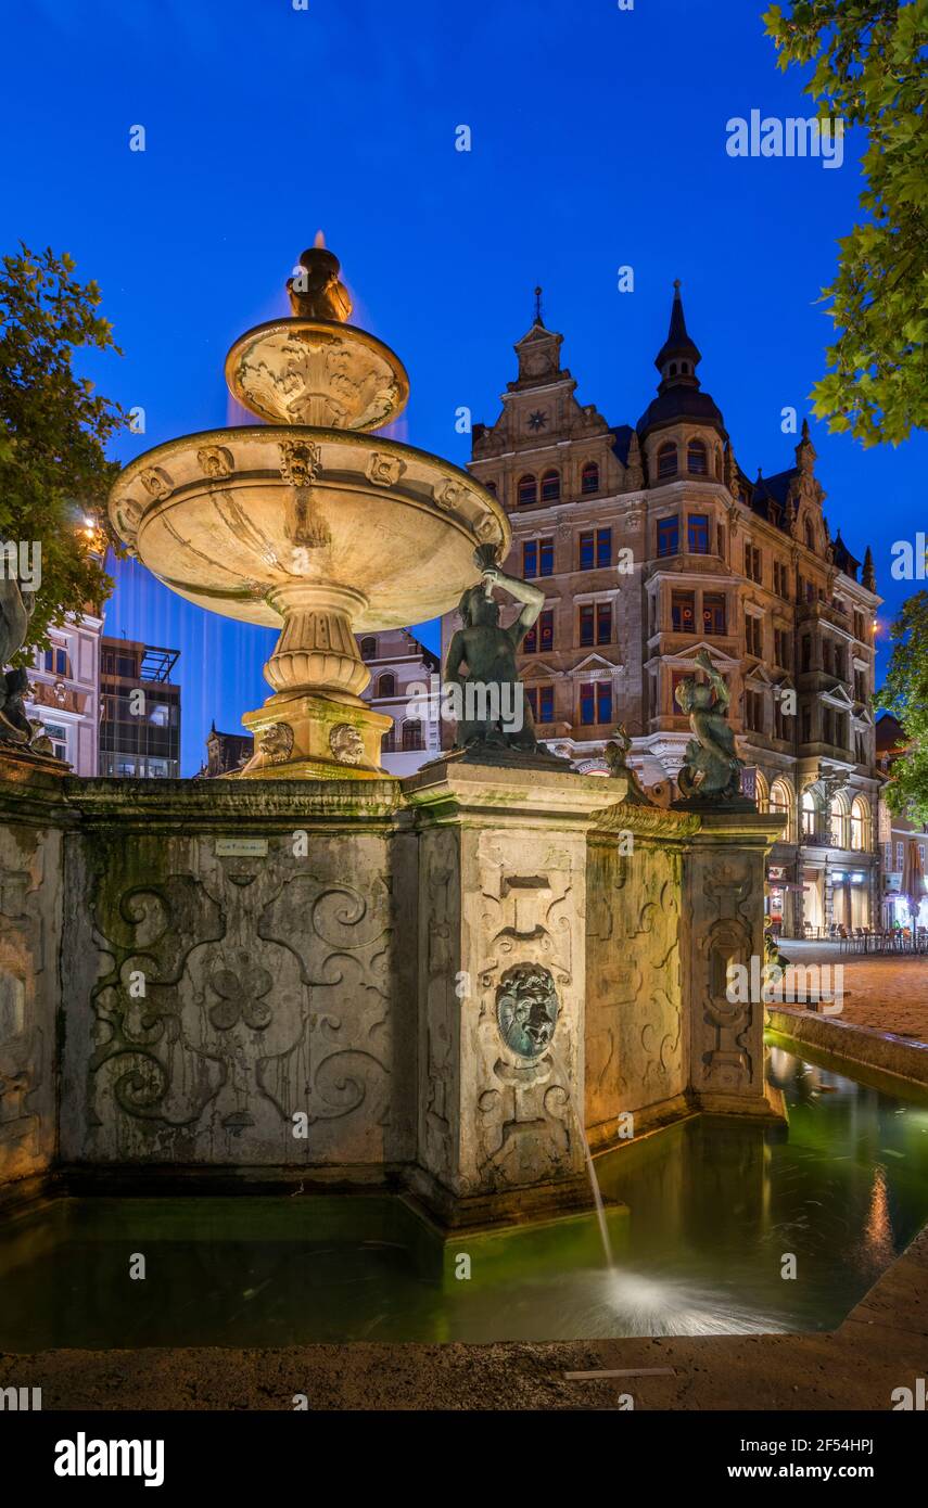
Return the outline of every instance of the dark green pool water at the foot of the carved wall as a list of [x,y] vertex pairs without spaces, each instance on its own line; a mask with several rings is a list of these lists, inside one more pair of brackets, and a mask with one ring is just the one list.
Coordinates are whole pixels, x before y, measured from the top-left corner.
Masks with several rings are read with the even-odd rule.
[[611,1271],[593,1215],[442,1249],[389,1197],[60,1202],[0,1244],[0,1350],[833,1329],[928,1218],[928,1108],[768,1071],[788,1133],[696,1117],[596,1160]]

